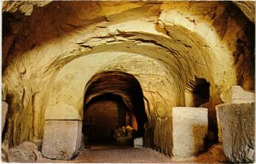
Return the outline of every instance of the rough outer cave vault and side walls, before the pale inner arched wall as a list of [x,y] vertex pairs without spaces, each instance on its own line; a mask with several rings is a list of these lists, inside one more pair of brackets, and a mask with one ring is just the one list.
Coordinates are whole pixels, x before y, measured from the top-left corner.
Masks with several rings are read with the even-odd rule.
[[[9,140],[19,144],[42,139],[44,111],[55,76],[63,65],[86,54],[148,55],[160,60],[172,76],[173,105],[184,104],[184,88],[194,75],[211,82],[212,105],[218,104],[219,94],[236,83],[232,55],[237,50],[237,34],[247,39],[243,35],[247,20],[241,17],[237,21],[241,13],[229,8],[230,3],[221,2],[52,2],[35,8],[16,35],[3,71],[11,109]],[[251,74],[242,78],[252,79]],[[154,100],[149,99],[149,105],[151,102]],[[156,113],[157,108],[148,109]],[[162,128],[169,112],[163,113],[152,116],[157,129]],[[160,141],[161,135],[168,139],[162,134],[167,131],[155,133],[154,144],[162,150],[169,149]]]

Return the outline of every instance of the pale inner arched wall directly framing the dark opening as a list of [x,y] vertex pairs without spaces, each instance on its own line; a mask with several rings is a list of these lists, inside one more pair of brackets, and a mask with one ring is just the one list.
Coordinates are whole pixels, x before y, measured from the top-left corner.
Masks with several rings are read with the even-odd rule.
[[[95,62],[96,61],[96,62]],[[92,76],[100,71],[124,71],[135,76],[143,88],[144,98],[148,100],[146,114],[148,124],[154,127],[154,119],[165,118],[172,124],[172,106],[178,105],[177,91],[172,76],[166,67],[152,58],[139,54],[124,52],[105,52],[89,54],[74,59],[65,65],[55,78],[49,105],[46,110],[52,110],[57,104],[67,104],[79,109],[83,116],[84,88]],[[56,109],[55,112],[61,112]],[[139,110],[139,109],[138,109]],[[53,111],[53,110],[52,110]],[[166,139],[166,145],[172,144],[172,131],[162,129],[164,135],[157,131],[151,138]],[[157,145],[157,143],[155,143]],[[152,145],[153,146],[153,145]],[[171,149],[170,149],[171,150]]]

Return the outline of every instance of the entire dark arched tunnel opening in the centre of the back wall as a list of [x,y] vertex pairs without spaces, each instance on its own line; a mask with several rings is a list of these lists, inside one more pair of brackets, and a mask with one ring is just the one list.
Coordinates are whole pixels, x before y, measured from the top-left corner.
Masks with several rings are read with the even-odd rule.
[[84,93],[85,148],[131,147],[133,139],[143,137],[147,121],[143,90],[134,76],[121,71],[92,76]]

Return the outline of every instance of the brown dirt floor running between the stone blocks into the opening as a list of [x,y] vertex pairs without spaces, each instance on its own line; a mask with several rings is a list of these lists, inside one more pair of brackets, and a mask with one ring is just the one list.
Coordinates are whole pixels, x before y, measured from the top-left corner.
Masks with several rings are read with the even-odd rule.
[[206,153],[186,159],[175,159],[149,148],[133,148],[127,144],[93,143],[79,151],[71,161],[49,160],[52,163],[224,163],[220,144],[212,146]]

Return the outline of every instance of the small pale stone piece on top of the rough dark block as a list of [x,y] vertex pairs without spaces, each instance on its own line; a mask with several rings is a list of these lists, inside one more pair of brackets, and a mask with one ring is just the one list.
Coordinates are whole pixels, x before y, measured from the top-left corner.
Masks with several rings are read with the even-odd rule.
[[253,103],[255,102],[255,93],[245,91],[241,86],[232,86],[231,104]]

